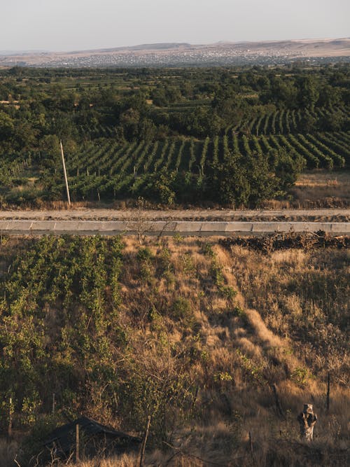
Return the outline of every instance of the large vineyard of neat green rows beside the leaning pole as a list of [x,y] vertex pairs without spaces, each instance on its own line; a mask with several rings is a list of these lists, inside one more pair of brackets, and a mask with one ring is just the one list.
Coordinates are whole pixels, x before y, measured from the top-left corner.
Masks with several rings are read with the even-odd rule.
[[[182,174],[186,183],[201,186],[211,176],[212,165],[228,153],[246,158],[286,150],[307,169],[349,167],[349,134],[270,134],[258,137],[230,131],[223,137],[169,138],[147,143],[118,144],[113,139],[92,141],[75,154],[66,155],[71,194],[76,200],[114,199],[147,195],[155,178]],[[244,162],[243,162],[244,163]],[[63,190],[63,181],[62,181]]]

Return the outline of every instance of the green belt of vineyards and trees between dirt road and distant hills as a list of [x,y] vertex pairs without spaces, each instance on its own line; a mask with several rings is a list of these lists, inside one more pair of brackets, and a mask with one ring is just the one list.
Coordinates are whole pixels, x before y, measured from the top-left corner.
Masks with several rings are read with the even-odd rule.
[[66,200],[59,140],[73,202],[256,207],[294,202],[304,170],[349,169],[345,66],[18,73],[0,71],[6,209]]

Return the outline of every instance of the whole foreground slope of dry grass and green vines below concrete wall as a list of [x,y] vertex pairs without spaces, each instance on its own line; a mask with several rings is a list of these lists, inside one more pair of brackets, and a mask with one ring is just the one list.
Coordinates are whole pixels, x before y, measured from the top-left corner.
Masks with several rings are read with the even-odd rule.
[[[23,397],[29,393],[16,389],[18,426],[29,428],[49,411],[53,387],[41,385],[38,378],[48,358],[56,365],[55,370],[45,371],[50,379],[56,378],[58,413],[62,409],[83,412],[136,432],[144,427],[146,415],[153,414],[150,465],[164,465],[173,454],[154,450],[162,440],[219,465],[244,461],[244,465],[262,466],[272,459],[276,465],[285,459],[294,465],[298,458],[304,459],[304,465],[321,461],[344,465],[342,449],[349,440],[346,251],[266,254],[238,246],[229,251],[211,239],[208,243],[147,240],[145,249],[127,238],[121,250],[98,238],[44,239],[39,247],[37,242],[11,239],[0,247],[1,282],[7,282],[6,292],[0,286],[5,296],[0,318],[3,368],[6,362],[21,365],[17,357],[24,356],[15,352],[16,345],[23,345],[25,329],[34,326],[36,335],[35,342],[25,345],[40,403],[29,413],[23,409]],[[23,295],[34,287],[30,278],[36,273],[25,266],[26,261],[13,263],[13,256],[20,253],[23,259],[28,255],[25,251],[44,251],[49,259],[43,260],[38,275],[49,277],[53,272],[57,276],[62,264],[71,264],[69,254],[64,263],[63,253],[72,245],[79,281],[86,283],[90,276],[90,286],[71,284],[69,303],[64,302],[66,295],[53,291],[52,279],[38,295]],[[52,269],[55,252],[57,263]],[[112,280],[113,255],[121,255],[118,286]],[[90,268],[81,272],[84,258]],[[101,272],[98,277],[96,270]],[[66,274],[69,277],[69,268]],[[27,302],[14,302],[11,293],[17,298],[27,296]],[[6,334],[13,339],[6,340]],[[43,355],[38,358],[35,354],[42,344]],[[329,414],[325,412],[328,370],[332,372]],[[276,412],[271,384],[276,384],[284,419]],[[72,393],[76,386],[79,389]],[[6,384],[1,391],[8,393]],[[310,402],[319,417],[312,449],[298,442],[295,419],[302,405]],[[248,431],[253,433],[255,459],[248,454]],[[3,459],[12,455],[8,451],[10,447],[4,445]],[[125,466],[134,465],[132,456],[124,461]],[[179,452],[169,465],[204,463]]]

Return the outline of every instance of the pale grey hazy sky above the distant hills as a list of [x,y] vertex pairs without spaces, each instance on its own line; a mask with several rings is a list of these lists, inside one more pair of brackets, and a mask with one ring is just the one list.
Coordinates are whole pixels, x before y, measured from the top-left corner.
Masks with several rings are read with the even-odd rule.
[[349,0],[0,0],[0,50],[350,36]]

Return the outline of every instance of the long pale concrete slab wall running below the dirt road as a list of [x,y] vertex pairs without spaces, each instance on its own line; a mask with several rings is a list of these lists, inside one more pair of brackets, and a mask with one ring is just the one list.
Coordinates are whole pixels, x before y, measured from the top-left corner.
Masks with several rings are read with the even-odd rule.
[[197,222],[197,221],[0,221],[6,235],[262,235],[274,232],[317,232],[349,235],[342,222]]

